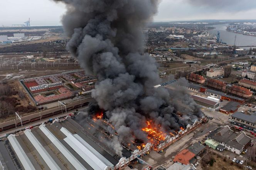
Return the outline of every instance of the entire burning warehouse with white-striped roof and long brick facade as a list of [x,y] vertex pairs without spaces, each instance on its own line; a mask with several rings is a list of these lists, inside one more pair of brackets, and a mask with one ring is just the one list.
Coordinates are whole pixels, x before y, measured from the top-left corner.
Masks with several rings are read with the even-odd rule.
[[[102,121],[96,123],[95,121]],[[138,163],[138,159],[152,150],[160,151],[187,133],[199,127],[204,118],[187,125],[177,135],[167,135],[157,148],[147,143],[139,150],[123,146],[122,156],[106,143],[113,135],[106,133],[106,120],[93,120],[79,113],[74,118],[63,118],[11,134],[0,142],[0,162],[5,169],[78,169],[78,170],[117,170],[129,164]],[[97,132],[97,133],[95,133]]]

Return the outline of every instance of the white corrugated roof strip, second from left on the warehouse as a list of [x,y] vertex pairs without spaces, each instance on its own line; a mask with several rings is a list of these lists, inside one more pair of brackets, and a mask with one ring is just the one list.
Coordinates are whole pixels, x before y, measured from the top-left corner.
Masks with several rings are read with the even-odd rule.
[[49,155],[49,153],[45,150],[45,148],[41,145],[41,143],[35,138],[31,130],[25,130],[25,135],[29,139],[29,141],[32,143],[32,145],[35,147],[37,152],[40,154],[40,156],[43,158],[45,163],[47,163],[48,167],[51,170],[61,170],[61,168],[57,165],[57,163],[52,159],[52,157]]

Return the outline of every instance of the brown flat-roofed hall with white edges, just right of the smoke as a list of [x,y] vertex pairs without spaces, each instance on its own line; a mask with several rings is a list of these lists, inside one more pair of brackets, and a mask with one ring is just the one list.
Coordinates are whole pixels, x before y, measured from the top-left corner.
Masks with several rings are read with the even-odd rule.
[[194,99],[195,103],[197,103],[197,104],[201,105],[202,107],[207,108],[211,111],[215,111],[215,110],[219,109],[219,107],[220,107],[219,102],[215,102],[215,101],[210,100],[205,97],[200,97],[198,95],[192,95],[191,98]]

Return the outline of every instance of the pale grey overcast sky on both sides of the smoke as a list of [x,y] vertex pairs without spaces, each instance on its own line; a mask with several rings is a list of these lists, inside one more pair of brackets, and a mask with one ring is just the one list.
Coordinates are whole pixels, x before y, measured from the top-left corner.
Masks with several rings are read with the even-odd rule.
[[[65,5],[51,0],[0,0],[0,25],[61,25]],[[162,0],[154,21],[256,19],[256,0]]]

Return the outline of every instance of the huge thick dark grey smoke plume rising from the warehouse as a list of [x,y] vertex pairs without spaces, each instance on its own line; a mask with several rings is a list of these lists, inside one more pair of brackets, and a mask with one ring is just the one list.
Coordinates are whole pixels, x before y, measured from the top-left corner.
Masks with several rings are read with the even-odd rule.
[[[172,95],[153,87],[158,83],[155,60],[142,54],[142,30],[157,13],[159,0],[59,1],[67,4],[62,23],[71,37],[68,49],[87,73],[98,76],[92,96],[107,111],[120,142],[146,142],[147,134],[141,131],[146,120],[168,131],[197,118],[192,113],[177,116]],[[119,155],[120,142],[112,143]]]

